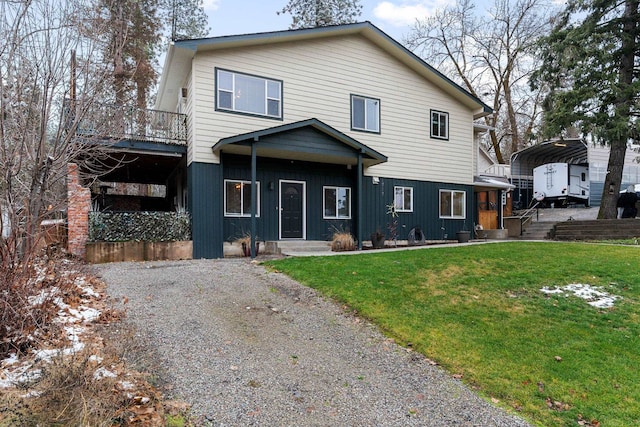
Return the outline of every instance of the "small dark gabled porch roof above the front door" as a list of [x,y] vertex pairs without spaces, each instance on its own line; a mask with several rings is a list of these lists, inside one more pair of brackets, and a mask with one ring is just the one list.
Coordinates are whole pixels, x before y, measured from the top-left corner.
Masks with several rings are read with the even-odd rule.
[[214,152],[251,155],[253,143],[256,143],[259,157],[356,165],[358,154],[362,153],[365,166],[387,161],[383,154],[318,119],[223,138],[212,149]]

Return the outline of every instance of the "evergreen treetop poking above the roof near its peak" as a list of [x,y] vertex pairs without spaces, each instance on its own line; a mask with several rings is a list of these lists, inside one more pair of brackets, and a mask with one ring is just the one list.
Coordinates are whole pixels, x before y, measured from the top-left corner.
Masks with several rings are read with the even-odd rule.
[[289,0],[278,12],[290,13],[292,30],[356,22],[362,15],[360,0]]

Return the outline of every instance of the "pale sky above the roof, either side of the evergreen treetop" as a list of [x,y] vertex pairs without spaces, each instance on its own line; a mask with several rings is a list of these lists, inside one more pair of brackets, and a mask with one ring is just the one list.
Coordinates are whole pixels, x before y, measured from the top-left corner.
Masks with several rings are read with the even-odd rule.
[[[361,0],[362,21],[371,21],[402,41],[416,18],[428,16],[454,0]],[[204,0],[210,36],[286,30],[291,15],[277,15],[288,0]]]

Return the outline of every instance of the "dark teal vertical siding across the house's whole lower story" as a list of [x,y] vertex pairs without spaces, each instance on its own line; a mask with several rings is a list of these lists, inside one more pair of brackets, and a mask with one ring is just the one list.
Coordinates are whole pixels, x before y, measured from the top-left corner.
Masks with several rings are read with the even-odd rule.
[[[224,179],[251,180],[250,157],[223,155],[220,165],[192,163],[188,167],[189,211],[192,215],[194,258],[223,256],[223,242],[233,241],[251,229],[250,218],[224,216]],[[260,182],[260,217],[257,233],[260,240],[279,238],[279,181],[306,183],[306,227],[308,240],[330,240],[336,230],[357,230],[357,168],[344,165],[309,163],[280,159],[257,159],[257,179]],[[363,177],[363,236],[369,240],[376,229],[389,238],[391,216],[387,205],[393,201],[393,187],[413,188],[413,212],[398,216],[398,239],[407,238],[413,227],[420,227],[428,240],[454,239],[459,230],[472,230],[474,218],[473,187],[460,184],[421,182],[380,178],[373,184],[371,177]],[[324,186],[351,188],[351,219],[323,219]],[[439,218],[439,190],[461,190],[467,194],[465,219]]]

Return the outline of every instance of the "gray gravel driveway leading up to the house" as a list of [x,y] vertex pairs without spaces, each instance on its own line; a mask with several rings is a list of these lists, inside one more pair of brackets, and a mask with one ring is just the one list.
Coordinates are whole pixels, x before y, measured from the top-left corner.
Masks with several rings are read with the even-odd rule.
[[95,267],[213,426],[529,426],[315,291],[242,260]]

